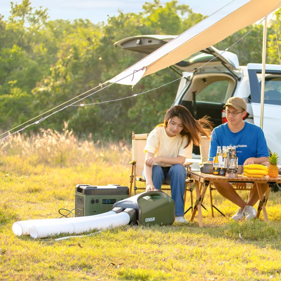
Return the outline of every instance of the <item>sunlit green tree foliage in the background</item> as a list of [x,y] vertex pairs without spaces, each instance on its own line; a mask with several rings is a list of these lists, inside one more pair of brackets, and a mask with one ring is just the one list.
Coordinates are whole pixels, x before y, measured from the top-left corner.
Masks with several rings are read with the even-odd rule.
[[[280,10],[275,15],[281,48]],[[143,11],[138,14],[119,11],[117,16],[108,17],[106,23],[93,24],[82,19],[52,21],[48,20],[46,8],[35,9],[29,0],[23,0],[21,4],[11,2],[10,17],[5,20],[0,15],[2,131],[88,90],[87,94],[93,93],[100,89],[94,89],[100,83],[143,57],[136,52],[115,48],[116,41],[135,35],[180,34],[203,18],[188,5],[179,5],[177,1],[162,4],[154,0],[152,3],[145,2]],[[267,62],[279,63],[272,21],[269,26]],[[231,46],[252,28],[246,27],[234,33],[215,47],[225,49]],[[240,64],[261,62],[261,46],[262,25],[259,25],[229,51],[238,55]],[[164,69],[146,76],[133,89],[112,85],[77,104],[125,98],[157,88],[178,77],[170,69]],[[177,86],[178,82],[174,82],[116,102],[70,106],[39,125],[29,127],[29,130],[44,127],[60,131],[65,121],[78,134],[92,133],[96,139],[129,139],[132,130],[138,133],[150,131],[162,121],[175,98]]]

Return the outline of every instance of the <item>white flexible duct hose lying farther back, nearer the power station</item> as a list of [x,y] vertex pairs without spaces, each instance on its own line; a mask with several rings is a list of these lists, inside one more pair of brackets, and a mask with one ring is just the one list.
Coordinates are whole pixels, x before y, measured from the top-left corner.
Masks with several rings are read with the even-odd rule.
[[22,221],[17,221],[13,223],[12,226],[12,231],[14,234],[17,236],[21,235],[28,235],[29,234],[29,227],[35,226],[37,224],[48,224],[50,222],[55,222],[58,221],[59,224],[63,223],[69,223],[69,222],[75,222],[83,219],[88,219],[88,218],[96,218],[96,217],[105,217],[105,216],[110,216],[112,214],[116,214],[114,211],[109,211],[103,214],[96,214],[92,216],[86,216],[86,217],[75,217],[75,218],[63,218],[63,219],[30,219],[30,220],[22,220]]

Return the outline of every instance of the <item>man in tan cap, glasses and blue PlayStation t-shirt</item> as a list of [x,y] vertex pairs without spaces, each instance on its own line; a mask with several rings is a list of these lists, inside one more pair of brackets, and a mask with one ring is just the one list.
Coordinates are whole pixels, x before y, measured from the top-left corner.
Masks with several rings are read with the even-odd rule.
[[[214,128],[209,156],[216,155],[217,146],[232,145],[236,148],[239,165],[265,164],[268,161],[269,151],[263,131],[258,126],[243,121],[247,114],[246,102],[235,96],[229,98],[224,107],[228,122]],[[232,219],[241,220],[244,216],[246,219],[253,219],[256,216],[257,212],[253,207],[259,199],[256,185],[246,203],[229,183],[214,183],[214,185],[221,195],[240,207]],[[261,189],[264,193],[267,184],[261,184]]]

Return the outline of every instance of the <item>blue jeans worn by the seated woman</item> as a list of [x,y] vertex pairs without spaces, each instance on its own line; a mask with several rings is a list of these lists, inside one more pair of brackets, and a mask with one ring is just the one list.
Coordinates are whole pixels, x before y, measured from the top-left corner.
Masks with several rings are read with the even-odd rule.
[[[184,165],[175,164],[171,167],[161,167],[157,164],[152,167],[152,182],[156,189],[161,189],[162,183],[170,184],[172,198],[175,201],[175,216],[183,216],[186,169]],[[145,179],[144,172],[142,172]]]

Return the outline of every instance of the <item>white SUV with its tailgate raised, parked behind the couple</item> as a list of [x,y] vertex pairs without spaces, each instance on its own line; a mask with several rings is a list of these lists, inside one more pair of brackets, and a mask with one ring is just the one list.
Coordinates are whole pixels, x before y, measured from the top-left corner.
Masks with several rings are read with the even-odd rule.
[[[176,36],[142,35],[115,43],[123,49],[149,54]],[[214,58],[221,54],[221,56]],[[209,62],[214,58],[211,62]],[[206,62],[209,62],[206,64]],[[214,47],[195,53],[174,66],[182,78],[172,106],[180,104],[195,119],[208,115],[215,126],[226,122],[224,104],[231,96],[244,98],[248,122],[260,126],[261,64],[239,66],[237,55]],[[193,71],[193,72],[192,72]],[[281,66],[266,64],[263,131],[271,152],[281,156]],[[194,158],[199,157],[194,148]]]

